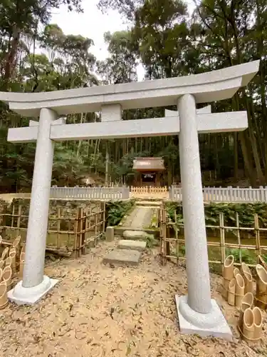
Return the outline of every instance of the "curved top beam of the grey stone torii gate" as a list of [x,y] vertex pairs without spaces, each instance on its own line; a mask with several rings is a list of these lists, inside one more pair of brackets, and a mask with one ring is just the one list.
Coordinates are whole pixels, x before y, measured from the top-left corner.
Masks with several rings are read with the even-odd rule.
[[193,94],[197,103],[231,98],[246,86],[258,71],[259,61],[226,69],[152,81],[93,86],[42,93],[0,92],[0,100],[23,116],[39,116],[42,108],[58,115],[100,111],[105,104],[120,104],[122,109],[170,106],[177,98]]

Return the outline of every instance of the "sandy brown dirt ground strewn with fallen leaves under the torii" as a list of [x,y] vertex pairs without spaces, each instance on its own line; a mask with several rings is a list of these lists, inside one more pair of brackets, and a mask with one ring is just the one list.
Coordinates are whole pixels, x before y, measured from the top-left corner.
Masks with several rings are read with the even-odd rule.
[[[184,294],[184,268],[161,266],[158,251],[142,258],[137,268],[114,268],[101,261],[114,242],[100,242],[87,256],[64,259],[46,267],[60,283],[36,306],[9,305],[0,311],[0,356],[3,357],[263,357],[261,346],[249,348],[235,338],[181,336],[174,293]],[[229,323],[234,308],[221,300],[212,275],[213,296]],[[266,316],[264,316],[266,328]]]

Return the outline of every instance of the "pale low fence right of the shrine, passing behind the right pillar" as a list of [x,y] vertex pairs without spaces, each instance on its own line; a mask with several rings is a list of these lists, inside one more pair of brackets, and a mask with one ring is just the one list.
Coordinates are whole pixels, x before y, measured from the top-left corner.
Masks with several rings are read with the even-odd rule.
[[[205,202],[266,202],[267,186],[259,188],[226,188],[204,187],[203,198]],[[169,199],[172,201],[182,201],[182,188],[177,186],[169,187]]]

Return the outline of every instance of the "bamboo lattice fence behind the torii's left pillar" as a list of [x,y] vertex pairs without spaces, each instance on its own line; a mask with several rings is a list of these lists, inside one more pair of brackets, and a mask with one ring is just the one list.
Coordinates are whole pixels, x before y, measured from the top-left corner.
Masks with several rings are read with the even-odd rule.
[[[26,241],[28,210],[14,204],[11,213],[0,214],[0,250],[11,246],[16,236]],[[49,208],[46,251],[77,258],[86,248],[94,246],[105,232],[105,202],[90,202],[87,206]],[[1,249],[2,248],[2,249]]]

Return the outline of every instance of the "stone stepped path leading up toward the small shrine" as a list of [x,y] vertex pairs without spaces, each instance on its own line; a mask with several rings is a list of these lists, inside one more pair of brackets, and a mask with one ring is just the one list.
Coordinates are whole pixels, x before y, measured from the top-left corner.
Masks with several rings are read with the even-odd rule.
[[118,241],[116,248],[108,252],[103,258],[103,263],[122,266],[137,266],[139,264],[142,252],[147,248],[147,238],[151,236],[147,233],[147,229],[145,231],[145,228],[151,224],[152,212],[155,207],[159,208],[160,203],[160,201],[157,201],[157,203],[151,201],[137,202],[134,211],[125,221],[125,227],[120,227],[120,235],[123,239]]

